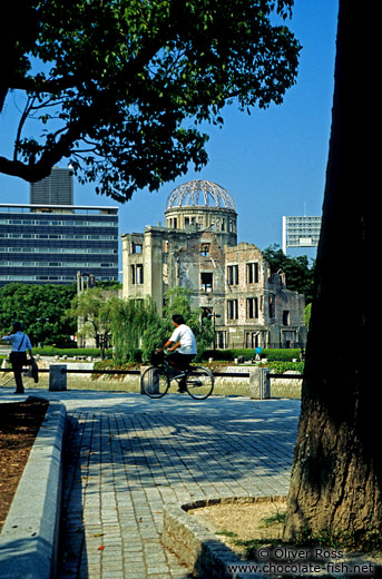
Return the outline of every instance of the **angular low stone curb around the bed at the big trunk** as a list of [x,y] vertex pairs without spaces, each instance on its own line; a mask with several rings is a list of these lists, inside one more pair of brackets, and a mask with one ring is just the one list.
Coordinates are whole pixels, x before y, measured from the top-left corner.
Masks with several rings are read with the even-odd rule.
[[[225,497],[222,499],[203,499],[192,503],[164,507],[163,542],[184,563],[189,566],[196,577],[203,579],[247,579],[248,573],[228,572],[228,565],[243,565],[226,544],[219,541],[212,531],[190,517],[187,511],[218,503],[254,502],[258,498]],[[261,500],[261,499],[259,499]],[[261,573],[251,573],[252,579],[263,579]]]

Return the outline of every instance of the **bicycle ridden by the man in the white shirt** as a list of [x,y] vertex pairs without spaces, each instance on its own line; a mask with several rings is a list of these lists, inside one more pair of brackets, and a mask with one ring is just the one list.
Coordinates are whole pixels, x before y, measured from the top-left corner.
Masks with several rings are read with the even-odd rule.
[[160,365],[151,365],[145,370],[140,379],[141,392],[149,398],[159,399],[167,394],[170,382],[184,380],[185,391],[195,400],[205,400],[214,390],[214,375],[204,366],[188,366],[176,370],[164,357]]

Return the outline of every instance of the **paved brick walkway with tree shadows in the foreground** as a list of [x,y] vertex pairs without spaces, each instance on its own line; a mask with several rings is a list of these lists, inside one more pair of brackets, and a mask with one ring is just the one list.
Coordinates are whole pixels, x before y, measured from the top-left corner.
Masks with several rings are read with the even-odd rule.
[[165,503],[287,492],[300,401],[37,392],[69,418],[59,579],[186,579]]

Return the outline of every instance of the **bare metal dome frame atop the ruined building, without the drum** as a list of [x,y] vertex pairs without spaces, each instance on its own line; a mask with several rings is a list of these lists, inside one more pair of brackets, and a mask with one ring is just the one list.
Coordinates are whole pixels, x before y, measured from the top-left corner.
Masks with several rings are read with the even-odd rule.
[[[200,203],[200,199],[203,203]],[[167,209],[175,207],[221,207],[236,212],[234,199],[221,185],[208,180],[192,180],[176,187],[167,199]]]

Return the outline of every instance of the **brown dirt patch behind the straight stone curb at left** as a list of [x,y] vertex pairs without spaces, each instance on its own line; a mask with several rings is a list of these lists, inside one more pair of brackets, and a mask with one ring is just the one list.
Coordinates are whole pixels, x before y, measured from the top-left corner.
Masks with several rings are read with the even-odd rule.
[[46,401],[0,404],[0,532],[47,408]]

